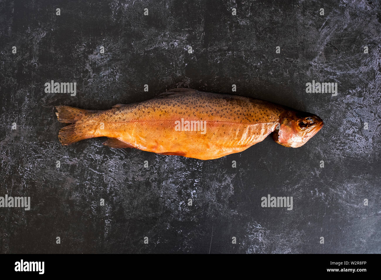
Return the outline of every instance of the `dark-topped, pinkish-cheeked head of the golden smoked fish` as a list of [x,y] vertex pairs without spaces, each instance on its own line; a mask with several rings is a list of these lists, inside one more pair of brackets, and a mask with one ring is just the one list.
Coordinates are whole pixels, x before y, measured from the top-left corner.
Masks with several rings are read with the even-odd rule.
[[288,110],[280,116],[280,126],[272,134],[274,141],[285,147],[297,148],[306,144],[324,123],[317,115]]

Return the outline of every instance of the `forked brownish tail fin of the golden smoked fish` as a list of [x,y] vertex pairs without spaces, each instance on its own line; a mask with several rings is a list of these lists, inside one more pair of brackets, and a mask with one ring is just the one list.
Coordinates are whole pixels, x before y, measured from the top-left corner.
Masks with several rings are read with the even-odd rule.
[[62,145],[70,145],[72,143],[87,139],[83,129],[76,127],[75,123],[83,118],[86,113],[91,110],[79,109],[70,106],[56,106],[58,121],[61,123],[71,123],[65,126],[58,133],[58,139]]

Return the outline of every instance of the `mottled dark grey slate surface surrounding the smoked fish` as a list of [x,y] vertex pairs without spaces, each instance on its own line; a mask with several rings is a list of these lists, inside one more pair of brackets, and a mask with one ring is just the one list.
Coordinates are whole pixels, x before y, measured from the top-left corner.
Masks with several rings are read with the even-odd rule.
[[[0,208],[1,253],[381,253],[380,4],[221,2],[0,2],[0,196],[31,199],[29,211]],[[50,80],[77,95],[45,93]],[[338,95],[306,93],[312,80]],[[210,161],[57,138],[55,105],[232,84],[325,126],[297,149],[268,137]],[[262,208],[267,194],[292,196],[293,210]]]

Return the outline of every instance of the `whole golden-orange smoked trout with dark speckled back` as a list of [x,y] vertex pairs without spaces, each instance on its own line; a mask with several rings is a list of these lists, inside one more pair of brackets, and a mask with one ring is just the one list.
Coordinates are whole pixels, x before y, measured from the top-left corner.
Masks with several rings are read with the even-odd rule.
[[286,147],[303,146],[323,126],[317,115],[261,99],[176,88],[157,98],[109,110],[56,106],[62,145],[106,136],[112,148],[210,160],[242,152],[273,133]]

